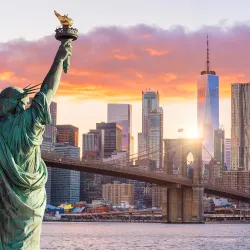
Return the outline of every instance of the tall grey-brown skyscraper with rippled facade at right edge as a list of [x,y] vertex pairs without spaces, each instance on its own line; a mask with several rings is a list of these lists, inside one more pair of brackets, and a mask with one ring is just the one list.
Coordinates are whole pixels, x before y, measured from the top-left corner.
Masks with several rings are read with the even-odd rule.
[[231,169],[250,170],[250,83],[231,85]]

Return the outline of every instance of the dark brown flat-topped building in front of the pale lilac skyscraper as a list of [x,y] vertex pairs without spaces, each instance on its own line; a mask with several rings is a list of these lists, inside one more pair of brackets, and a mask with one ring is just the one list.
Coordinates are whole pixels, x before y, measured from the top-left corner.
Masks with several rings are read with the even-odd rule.
[[96,129],[104,130],[104,158],[122,150],[122,126],[117,123],[96,123]]

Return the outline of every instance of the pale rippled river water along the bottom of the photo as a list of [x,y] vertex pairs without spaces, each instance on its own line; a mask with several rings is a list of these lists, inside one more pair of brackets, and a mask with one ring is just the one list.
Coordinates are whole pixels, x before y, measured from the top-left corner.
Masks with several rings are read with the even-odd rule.
[[246,250],[250,224],[45,222],[41,250]]

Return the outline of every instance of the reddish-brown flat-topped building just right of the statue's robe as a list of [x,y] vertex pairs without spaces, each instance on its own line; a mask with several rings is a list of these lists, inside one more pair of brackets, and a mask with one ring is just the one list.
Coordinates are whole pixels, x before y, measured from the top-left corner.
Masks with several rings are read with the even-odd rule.
[[57,125],[56,141],[58,143],[69,143],[71,146],[78,147],[79,129],[72,125]]

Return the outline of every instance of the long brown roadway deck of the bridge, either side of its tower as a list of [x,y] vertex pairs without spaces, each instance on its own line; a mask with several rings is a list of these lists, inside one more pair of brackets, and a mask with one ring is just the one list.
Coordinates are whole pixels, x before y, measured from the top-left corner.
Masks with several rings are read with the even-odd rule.
[[[177,176],[165,175],[163,173],[149,172],[133,168],[130,166],[119,167],[116,164],[103,162],[83,162],[75,159],[66,159],[55,157],[53,154],[42,153],[42,158],[48,167],[71,169],[81,172],[115,176],[131,180],[138,180],[157,184],[159,186],[166,186],[168,184],[179,184],[186,187],[192,187],[193,183],[190,179],[179,178]],[[244,193],[234,189],[225,189],[217,187],[212,184],[204,185],[204,192],[220,197],[240,200],[250,203],[250,194]]]

